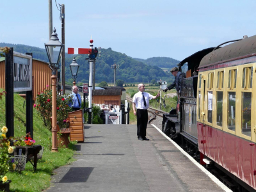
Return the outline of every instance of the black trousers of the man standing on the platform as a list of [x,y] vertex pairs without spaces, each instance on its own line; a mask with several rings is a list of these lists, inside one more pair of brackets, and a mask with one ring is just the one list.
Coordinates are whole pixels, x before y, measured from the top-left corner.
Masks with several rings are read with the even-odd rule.
[[146,137],[146,129],[148,124],[148,110],[137,109],[137,136]]

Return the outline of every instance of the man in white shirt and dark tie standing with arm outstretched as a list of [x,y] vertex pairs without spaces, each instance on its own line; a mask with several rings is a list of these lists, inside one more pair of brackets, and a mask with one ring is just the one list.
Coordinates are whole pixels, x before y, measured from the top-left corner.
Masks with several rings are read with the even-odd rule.
[[[150,95],[145,91],[144,84],[138,84],[139,92],[133,96],[132,108],[134,115],[137,115],[137,136],[138,140],[148,140],[146,138],[146,129],[148,124],[148,106],[149,100],[159,97],[159,93],[156,96]],[[136,109],[137,112],[136,112]]]

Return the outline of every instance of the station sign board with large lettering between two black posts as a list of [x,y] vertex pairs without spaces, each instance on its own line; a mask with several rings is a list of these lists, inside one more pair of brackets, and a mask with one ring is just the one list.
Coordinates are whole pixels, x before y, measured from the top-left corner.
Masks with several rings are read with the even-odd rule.
[[32,56],[13,51],[13,92],[32,90]]

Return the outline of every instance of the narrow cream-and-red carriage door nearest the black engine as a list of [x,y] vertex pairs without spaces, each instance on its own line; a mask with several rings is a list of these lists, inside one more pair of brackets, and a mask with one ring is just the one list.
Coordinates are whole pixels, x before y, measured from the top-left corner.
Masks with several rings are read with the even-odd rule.
[[[197,95],[197,131],[198,131],[198,148],[202,154],[205,154],[205,77],[204,73],[198,76],[198,95]],[[207,98],[207,97],[206,97]]]

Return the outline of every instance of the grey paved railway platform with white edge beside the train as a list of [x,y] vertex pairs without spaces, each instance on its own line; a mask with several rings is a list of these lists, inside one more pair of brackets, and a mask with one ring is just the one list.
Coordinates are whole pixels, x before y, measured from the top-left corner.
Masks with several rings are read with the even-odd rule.
[[55,170],[47,191],[229,191],[154,125],[149,141],[136,125],[84,125],[84,136],[77,161]]

